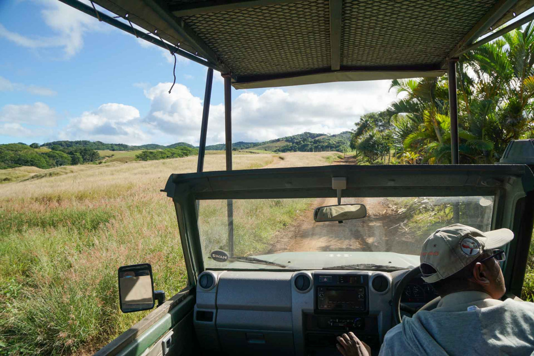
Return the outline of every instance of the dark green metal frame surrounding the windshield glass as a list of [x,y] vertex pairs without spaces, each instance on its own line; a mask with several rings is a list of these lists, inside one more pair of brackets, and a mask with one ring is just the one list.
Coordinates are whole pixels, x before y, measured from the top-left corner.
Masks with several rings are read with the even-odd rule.
[[[347,177],[342,196],[494,196],[491,228],[511,228],[516,234],[503,266],[507,284],[522,284],[528,256],[518,252],[516,263],[515,251],[530,243],[532,217],[521,223],[521,215],[534,204],[534,175],[526,165],[331,165],[171,175],[163,191],[175,203],[190,284],[206,269],[197,200],[335,197],[332,177]],[[512,269],[519,276],[512,275]]]

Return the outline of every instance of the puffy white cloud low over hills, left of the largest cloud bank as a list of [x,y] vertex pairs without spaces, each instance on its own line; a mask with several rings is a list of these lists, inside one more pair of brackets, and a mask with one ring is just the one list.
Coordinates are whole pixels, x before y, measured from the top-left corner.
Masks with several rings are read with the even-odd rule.
[[139,123],[139,110],[133,106],[109,103],[84,112],[59,133],[64,140],[98,140],[105,143],[148,143],[150,136]]

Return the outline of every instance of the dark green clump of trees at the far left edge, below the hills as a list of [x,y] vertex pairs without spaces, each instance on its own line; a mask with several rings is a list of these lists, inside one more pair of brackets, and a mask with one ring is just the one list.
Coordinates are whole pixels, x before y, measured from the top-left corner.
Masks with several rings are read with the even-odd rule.
[[33,166],[42,169],[95,162],[100,159],[98,152],[90,148],[61,147],[53,145],[51,151],[41,151],[39,144],[0,145],[0,169]]

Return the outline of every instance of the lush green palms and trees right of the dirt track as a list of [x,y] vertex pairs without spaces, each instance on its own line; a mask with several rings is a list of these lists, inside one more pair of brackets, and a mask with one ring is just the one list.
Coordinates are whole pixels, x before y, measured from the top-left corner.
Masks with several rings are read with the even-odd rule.
[[[367,162],[451,163],[447,77],[394,80],[398,100],[364,115],[351,147]],[[509,141],[534,138],[534,26],[463,54],[457,64],[460,163],[491,164]]]

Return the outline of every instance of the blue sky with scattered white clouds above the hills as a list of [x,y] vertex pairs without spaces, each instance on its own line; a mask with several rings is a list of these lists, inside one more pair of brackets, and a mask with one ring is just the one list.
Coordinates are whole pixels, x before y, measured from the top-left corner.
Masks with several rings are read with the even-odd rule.
[[[0,48],[0,144],[199,143],[206,67],[177,56],[169,94],[169,52],[57,0],[0,0]],[[232,141],[350,130],[395,100],[389,85],[232,89]],[[215,72],[208,145],[224,143],[223,99]]]

